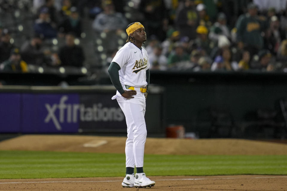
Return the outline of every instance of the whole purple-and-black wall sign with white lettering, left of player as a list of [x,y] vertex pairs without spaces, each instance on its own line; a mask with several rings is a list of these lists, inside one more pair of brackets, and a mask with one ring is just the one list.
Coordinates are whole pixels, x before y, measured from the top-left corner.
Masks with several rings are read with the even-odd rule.
[[125,131],[125,117],[106,94],[22,94],[23,133]]

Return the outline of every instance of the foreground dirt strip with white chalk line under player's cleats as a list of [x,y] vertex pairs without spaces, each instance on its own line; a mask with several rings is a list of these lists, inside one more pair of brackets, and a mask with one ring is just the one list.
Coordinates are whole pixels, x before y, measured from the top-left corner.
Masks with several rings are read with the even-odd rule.
[[17,179],[0,180],[1,191],[206,191],[206,190],[239,190],[239,191],[286,191],[287,176],[156,176],[150,177],[155,181],[152,188],[123,188],[122,177],[117,178],[49,178],[49,179]]

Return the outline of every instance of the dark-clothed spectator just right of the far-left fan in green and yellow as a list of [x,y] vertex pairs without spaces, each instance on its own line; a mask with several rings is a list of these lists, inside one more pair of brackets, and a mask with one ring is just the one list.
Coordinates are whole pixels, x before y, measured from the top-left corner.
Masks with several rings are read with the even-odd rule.
[[30,40],[26,41],[21,46],[21,55],[23,60],[29,64],[41,66],[47,64],[45,55],[49,55],[50,51],[42,49],[42,38],[40,35],[35,34]]

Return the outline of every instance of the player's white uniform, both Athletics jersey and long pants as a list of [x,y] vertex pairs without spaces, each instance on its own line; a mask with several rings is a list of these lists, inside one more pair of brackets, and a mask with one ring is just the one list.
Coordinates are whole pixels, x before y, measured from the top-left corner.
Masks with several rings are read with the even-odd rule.
[[[112,62],[120,65],[119,77],[123,89],[124,85],[143,87],[147,85],[146,70],[149,69],[149,59],[144,48],[139,49],[131,42],[126,43],[113,58]],[[117,91],[112,99],[117,99],[126,117],[126,167],[143,167],[144,144],[146,142],[146,99],[144,93],[138,92],[134,98],[124,98]]]

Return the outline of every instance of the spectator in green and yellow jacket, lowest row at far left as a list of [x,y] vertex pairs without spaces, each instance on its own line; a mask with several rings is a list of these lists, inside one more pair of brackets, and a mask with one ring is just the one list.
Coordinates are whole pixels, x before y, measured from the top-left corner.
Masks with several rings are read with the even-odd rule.
[[0,64],[0,68],[7,72],[28,72],[28,65],[22,60],[19,48],[13,48],[11,50],[10,57]]

